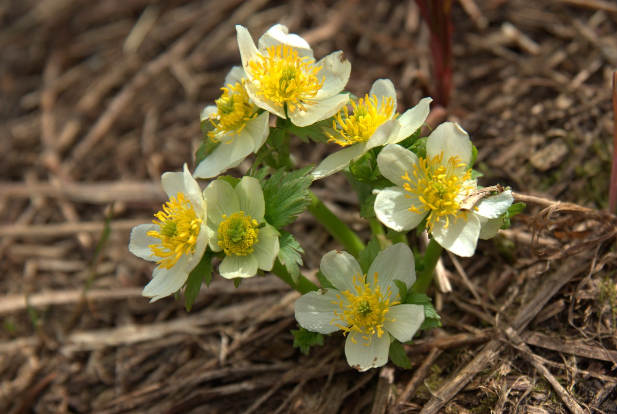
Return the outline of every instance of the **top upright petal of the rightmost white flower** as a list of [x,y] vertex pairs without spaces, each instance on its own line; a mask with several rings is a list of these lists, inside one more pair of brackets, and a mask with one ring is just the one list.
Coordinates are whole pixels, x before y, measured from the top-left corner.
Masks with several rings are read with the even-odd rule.
[[444,152],[444,163],[457,156],[463,163],[471,160],[471,141],[467,132],[454,122],[444,122],[426,140],[426,155],[429,159]]

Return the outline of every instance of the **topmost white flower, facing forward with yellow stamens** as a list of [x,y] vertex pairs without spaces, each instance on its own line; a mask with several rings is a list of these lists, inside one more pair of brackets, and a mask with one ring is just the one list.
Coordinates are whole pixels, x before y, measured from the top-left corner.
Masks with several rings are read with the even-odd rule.
[[255,104],[294,125],[325,120],[349,102],[340,92],[351,65],[342,52],[315,62],[309,44],[283,25],[272,26],[255,47],[249,31],[236,26],[246,90]]

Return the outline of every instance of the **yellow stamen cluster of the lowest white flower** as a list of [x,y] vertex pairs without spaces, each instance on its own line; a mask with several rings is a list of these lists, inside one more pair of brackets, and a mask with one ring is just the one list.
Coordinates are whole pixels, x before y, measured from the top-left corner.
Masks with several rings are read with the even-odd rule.
[[390,301],[392,290],[387,288],[385,293],[377,284],[378,274],[375,272],[375,285],[365,283],[365,277],[360,274],[354,275],[355,291],[346,290],[337,294],[342,312],[335,311],[334,319],[331,324],[341,328],[344,335],[351,332],[351,340],[357,343],[355,336],[359,334],[363,339],[363,345],[371,344],[371,336],[377,335],[381,338],[384,334],[383,324],[386,320],[394,322],[394,319],[387,319],[386,315],[391,306],[399,304],[399,294],[397,293],[394,301]]

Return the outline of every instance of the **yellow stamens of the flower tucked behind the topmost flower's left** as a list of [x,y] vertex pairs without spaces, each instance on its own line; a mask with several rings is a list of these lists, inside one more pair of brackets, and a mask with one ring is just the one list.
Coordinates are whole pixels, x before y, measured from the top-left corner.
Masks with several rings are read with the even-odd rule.
[[227,142],[230,144],[233,142],[233,136],[239,134],[246,123],[258,115],[257,107],[249,102],[249,95],[243,84],[228,84],[221,90],[223,94],[214,101],[217,104],[217,113],[210,115],[210,123],[214,129],[208,132],[208,136],[218,142],[222,136],[231,135],[232,139]]

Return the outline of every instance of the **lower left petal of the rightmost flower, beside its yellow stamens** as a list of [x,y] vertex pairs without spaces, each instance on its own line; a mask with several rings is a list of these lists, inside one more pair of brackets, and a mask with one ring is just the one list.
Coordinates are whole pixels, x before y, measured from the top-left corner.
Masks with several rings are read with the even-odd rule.
[[[418,197],[409,198],[409,195],[410,192],[401,187],[381,190],[375,199],[377,219],[397,232],[415,229],[426,216],[426,212]],[[411,206],[415,206],[423,213],[410,211]]]

